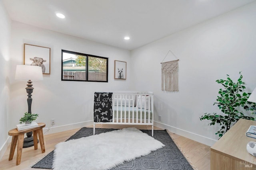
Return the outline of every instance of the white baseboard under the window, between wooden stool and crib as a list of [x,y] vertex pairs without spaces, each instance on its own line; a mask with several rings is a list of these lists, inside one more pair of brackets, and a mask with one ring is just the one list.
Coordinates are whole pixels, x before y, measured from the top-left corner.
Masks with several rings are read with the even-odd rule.
[[52,133],[68,131],[71,129],[82,128],[82,127],[90,126],[90,125],[93,125],[93,120],[79,122],[79,123],[72,123],[72,124],[62,125],[62,126],[56,126],[56,127],[54,127],[54,126],[53,127],[44,127],[43,132],[44,132],[44,135],[48,135],[48,134],[52,134]]

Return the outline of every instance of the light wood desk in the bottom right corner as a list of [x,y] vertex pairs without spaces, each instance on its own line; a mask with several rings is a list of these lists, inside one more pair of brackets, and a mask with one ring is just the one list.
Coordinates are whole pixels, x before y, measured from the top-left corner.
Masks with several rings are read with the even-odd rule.
[[211,147],[211,170],[256,170],[256,158],[246,150],[246,131],[256,121],[240,119]]

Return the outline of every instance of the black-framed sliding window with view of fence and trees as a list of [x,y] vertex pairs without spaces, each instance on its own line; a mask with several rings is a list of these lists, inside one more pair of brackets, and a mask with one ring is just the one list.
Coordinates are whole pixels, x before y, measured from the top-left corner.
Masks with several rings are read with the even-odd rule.
[[62,50],[61,80],[108,82],[108,58]]

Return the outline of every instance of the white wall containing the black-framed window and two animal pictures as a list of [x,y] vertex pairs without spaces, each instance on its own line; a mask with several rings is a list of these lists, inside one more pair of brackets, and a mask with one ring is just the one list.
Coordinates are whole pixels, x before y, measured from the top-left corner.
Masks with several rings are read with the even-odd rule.
[[[86,31],[86,30],[85,30]],[[130,89],[130,51],[88,41],[70,35],[40,29],[12,22],[11,40],[11,100],[10,125],[15,127],[23,113],[28,110],[26,81],[14,80],[17,64],[23,64],[24,43],[51,48],[51,72],[44,80],[34,81],[32,93],[32,113],[38,113],[37,122],[45,122],[50,127],[50,119],[55,119],[58,131],[92,125],[93,100],[96,91]],[[61,50],[76,51],[109,58],[108,82],[61,81]],[[114,60],[127,62],[127,79],[114,80]],[[54,129],[54,128],[53,128]],[[53,131],[52,131],[53,132]],[[54,131],[56,132],[56,131]]]

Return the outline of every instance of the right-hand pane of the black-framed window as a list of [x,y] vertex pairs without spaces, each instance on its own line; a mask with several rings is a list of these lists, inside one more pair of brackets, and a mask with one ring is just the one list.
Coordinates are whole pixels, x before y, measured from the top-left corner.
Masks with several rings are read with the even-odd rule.
[[88,56],[88,80],[107,81],[107,59]]

